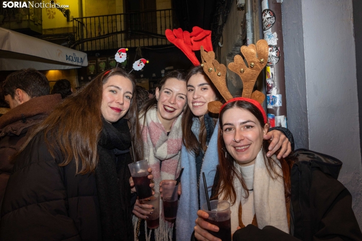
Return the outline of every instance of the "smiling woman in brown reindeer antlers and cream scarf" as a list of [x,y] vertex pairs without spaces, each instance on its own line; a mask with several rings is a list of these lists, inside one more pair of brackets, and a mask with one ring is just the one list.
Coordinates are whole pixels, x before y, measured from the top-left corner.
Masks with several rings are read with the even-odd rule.
[[[210,112],[219,113],[220,164],[211,198],[231,204],[229,228],[234,241],[362,240],[351,195],[337,181],[340,160],[306,149],[279,159],[267,155],[270,142],[263,136],[268,123],[260,104],[265,97],[252,92],[262,69],[257,61],[262,63],[262,56],[267,56],[268,45],[263,42],[257,43],[258,59],[255,46],[241,49],[249,67],[241,56],[229,64],[243,81],[242,97],[208,104]],[[210,60],[205,58],[207,67]],[[228,94],[226,89],[222,92]],[[210,233],[218,235],[221,229],[207,221],[209,215],[202,210],[197,215],[191,239],[220,241]]]

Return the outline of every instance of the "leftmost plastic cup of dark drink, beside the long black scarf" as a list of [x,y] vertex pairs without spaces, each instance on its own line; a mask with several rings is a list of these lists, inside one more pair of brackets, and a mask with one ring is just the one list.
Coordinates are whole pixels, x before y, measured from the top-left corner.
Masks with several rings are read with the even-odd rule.
[[136,163],[128,164],[129,171],[133,179],[134,187],[138,195],[138,199],[144,199],[152,196],[151,180],[148,179],[149,165],[147,160],[140,160]]

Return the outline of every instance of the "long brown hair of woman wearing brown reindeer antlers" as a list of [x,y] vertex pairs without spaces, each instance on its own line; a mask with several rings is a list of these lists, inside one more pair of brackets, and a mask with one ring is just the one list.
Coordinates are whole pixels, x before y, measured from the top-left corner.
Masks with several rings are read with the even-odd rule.
[[[253,104],[247,102],[247,101],[234,101],[227,104],[223,110],[220,112],[219,116],[219,136],[218,136],[218,153],[219,153],[219,182],[216,186],[216,194],[213,198],[220,196],[221,194],[224,195],[224,198],[229,199],[232,204],[235,204],[236,200],[236,191],[233,185],[233,179],[234,177],[237,177],[239,181],[241,182],[242,187],[244,188],[246,192],[245,198],[249,196],[248,189],[246,187],[246,184],[241,176],[241,173],[236,170],[234,162],[235,160],[233,157],[227,153],[225,157],[225,152],[227,151],[224,138],[223,138],[223,115],[226,110],[231,108],[240,108],[249,111],[251,114],[253,114],[259,121],[260,126],[264,128],[264,117],[260,110]],[[270,142],[267,140],[263,141],[263,154],[266,156],[266,153],[269,151]],[[276,152],[278,154],[279,151]],[[265,165],[267,166],[268,174],[271,178],[276,179],[278,177],[281,177],[275,170],[275,166],[278,167],[275,160],[271,157],[264,157]],[[285,194],[285,200],[286,202],[289,201],[291,197],[291,169],[293,166],[293,160],[289,157],[281,158],[279,160],[281,165],[281,170],[283,172],[283,180],[284,180],[284,194]],[[276,164],[276,165],[274,165]],[[272,173],[274,175],[272,175]]]

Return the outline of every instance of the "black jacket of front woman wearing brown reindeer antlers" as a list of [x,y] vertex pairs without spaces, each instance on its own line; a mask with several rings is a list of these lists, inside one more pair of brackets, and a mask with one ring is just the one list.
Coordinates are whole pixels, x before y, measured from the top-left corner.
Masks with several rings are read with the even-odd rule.
[[298,149],[291,173],[291,233],[253,225],[234,233],[234,241],[362,240],[352,210],[352,196],[337,178],[342,162],[335,157]]

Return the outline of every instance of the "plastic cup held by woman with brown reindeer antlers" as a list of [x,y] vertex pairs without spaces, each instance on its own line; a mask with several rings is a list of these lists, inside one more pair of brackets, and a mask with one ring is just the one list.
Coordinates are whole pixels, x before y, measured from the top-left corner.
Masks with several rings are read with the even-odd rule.
[[202,210],[208,213],[209,218],[205,221],[219,227],[219,232],[207,230],[210,234],[223,241],[231,240],[230,203],[225,200],[210,201],[211,211],[207,209],[207,203],[202,205]]

